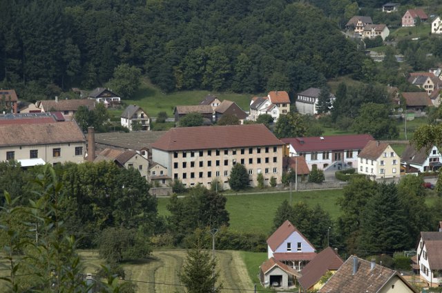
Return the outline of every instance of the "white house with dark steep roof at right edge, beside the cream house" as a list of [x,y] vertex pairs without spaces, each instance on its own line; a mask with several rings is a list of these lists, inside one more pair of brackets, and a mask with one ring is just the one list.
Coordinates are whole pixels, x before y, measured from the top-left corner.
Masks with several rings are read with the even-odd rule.
[[419,172],[437,171],[442,166],[442,154],[436,145],[428,150],[425,147],[416,150],[414,145],[407,145],[401,155],[401,165],[416,168]]

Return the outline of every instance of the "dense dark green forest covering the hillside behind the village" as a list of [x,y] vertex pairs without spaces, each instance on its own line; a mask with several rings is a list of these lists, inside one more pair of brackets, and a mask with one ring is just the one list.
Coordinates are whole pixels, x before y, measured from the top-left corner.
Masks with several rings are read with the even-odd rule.
[[29,101],[140,68],[170,92],[303,90],[363,55],[323,10],[290,0],[1,1],[1,87]]

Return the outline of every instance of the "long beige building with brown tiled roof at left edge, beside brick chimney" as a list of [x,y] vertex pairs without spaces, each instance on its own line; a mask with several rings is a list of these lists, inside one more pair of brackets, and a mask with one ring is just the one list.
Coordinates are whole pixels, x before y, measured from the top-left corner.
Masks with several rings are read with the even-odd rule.
[[86,138],[75,121],[0,125],[0,160],[82,163]]

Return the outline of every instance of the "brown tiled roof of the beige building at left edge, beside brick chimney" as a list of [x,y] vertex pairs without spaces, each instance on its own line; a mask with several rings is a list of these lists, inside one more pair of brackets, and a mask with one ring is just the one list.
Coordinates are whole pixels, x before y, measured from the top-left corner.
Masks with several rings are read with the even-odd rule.
[[75,121],[0,125],[0,146],[85,142]]

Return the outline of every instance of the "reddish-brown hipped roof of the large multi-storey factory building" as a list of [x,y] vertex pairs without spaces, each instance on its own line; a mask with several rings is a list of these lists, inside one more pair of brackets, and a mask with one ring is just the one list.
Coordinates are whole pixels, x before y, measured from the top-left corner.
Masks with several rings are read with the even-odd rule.
[[282,145],[263,124],[171,128],[152,144],[158,150],[204,150]]

